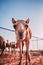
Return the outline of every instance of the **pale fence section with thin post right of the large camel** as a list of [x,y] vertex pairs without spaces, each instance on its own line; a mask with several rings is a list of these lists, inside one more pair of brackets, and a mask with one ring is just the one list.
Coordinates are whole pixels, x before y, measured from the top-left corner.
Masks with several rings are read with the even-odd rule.
[[30,41],[31,50],[43,50],[43,39],[33,36]]

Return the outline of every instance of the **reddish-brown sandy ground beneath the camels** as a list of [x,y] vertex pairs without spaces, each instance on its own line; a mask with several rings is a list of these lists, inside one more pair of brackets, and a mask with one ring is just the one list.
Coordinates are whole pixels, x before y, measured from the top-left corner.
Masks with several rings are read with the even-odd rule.
[[[43,54],[40,52],[30,52],[31,53],[31,65],[43,65]],[[0,65],[18,65],[20,61],[20,53],[19,52],[4,52],[2,56],[0,56]],[[27,60],[28,62],[28,60]],[[26,65],[26,55],[22,54],[21,65]],[[28,62],[29,65],[29,62]]]

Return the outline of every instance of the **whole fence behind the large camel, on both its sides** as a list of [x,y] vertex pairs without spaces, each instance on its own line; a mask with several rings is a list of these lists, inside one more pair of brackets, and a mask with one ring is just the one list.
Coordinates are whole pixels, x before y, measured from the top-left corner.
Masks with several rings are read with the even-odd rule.
[[[2,36],[5,36],[8,40],[15,40],[14,30],[0,27],[0,31],[0,35],[3,34]],[[43,38],[32,36],[30,50],[43,50]]]

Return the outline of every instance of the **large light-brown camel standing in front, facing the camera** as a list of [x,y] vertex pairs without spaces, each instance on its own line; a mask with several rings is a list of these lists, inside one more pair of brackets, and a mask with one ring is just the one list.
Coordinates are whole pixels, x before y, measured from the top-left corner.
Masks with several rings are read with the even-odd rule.
[[30,53],[29,53],[29,45],[30,45],[30,39],[32,37],[31,29],[28,27],[30,20],[29,18],[25,20],[15,20],[12,18],[13,27],[15,29],[16,34],[16,40],[17,40],[17,46],[20,48],[20,62],[18,65],[21,65],[21,59],[22,59],[22,51],[23,47],[21,49],[21,45],[26,45],[26,65],[27,65],[27,59],[30,63]]

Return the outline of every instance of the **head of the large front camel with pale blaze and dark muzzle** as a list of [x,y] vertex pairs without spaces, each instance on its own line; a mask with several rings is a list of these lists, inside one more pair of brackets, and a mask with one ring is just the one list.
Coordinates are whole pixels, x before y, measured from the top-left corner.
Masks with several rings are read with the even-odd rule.
[[26,37],[26,30],[28,27],[28,20],[17,20],[15,21],[14,18],[12,18],[13,27],[15,29],[16,38],[17,40],[23,40]]

